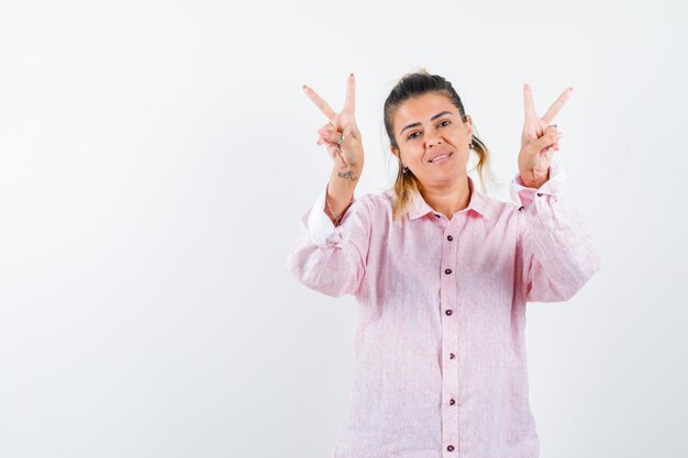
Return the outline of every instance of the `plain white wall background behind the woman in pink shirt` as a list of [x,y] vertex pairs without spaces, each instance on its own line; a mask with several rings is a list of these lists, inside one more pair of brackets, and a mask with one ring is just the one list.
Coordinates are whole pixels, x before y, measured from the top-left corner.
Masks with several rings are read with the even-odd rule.
[[0,457],[329,458],[355,302],[285,267],[332,167],[301,85],[339,110],[356,74],[362,196],[418,67],[504,182],[522,83],[541,114],[574,87],[556,154],[602,268],[529,305],[541,456],[688,456],[680,4],[1,1]]

